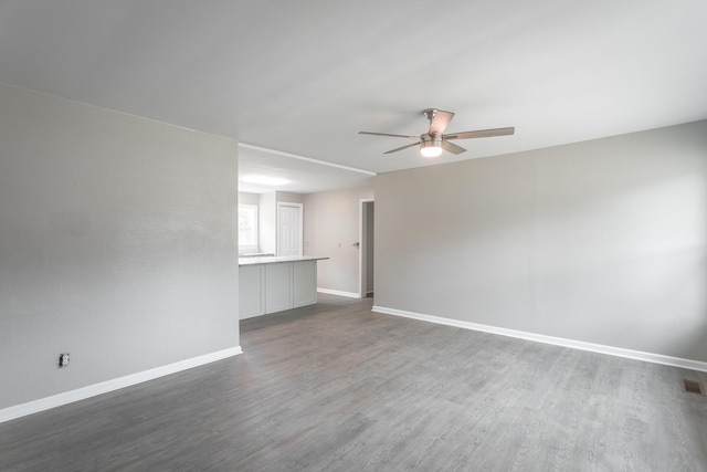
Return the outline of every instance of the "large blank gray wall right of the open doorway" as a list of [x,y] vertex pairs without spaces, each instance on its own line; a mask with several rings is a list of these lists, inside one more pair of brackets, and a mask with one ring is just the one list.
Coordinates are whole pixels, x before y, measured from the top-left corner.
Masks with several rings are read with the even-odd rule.
[[376,305],[707,361],[706,240],[707,122],[382,174]]

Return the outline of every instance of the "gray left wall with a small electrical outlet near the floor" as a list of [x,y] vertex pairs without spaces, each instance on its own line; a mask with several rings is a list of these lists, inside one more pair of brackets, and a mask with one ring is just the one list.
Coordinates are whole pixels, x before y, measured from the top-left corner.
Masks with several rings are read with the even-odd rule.
[[0,409],[239,345],[236,153],[0,84]]

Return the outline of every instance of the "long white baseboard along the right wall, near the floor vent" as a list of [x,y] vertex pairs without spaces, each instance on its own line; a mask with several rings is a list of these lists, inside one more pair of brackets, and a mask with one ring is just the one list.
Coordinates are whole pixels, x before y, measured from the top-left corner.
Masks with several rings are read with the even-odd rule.
[[403,316],[405,318],[421,319],[423,322],[436,323],[473,329],[484,333],[498,334],[502,336],[517,337],[520,339],[535,340],[538,343],[552,344],[555,346],[571,347],[573,349],[589,350],[592,353],[608,354],[610,356],[625,357],[629,359],[644,360],[646,363],[663,364],[666,366],[682,367],[684,369],[699,370],[707,373],[707,363],[679,357],[664,356],[662,354],[644,353],[641,350],[624,349],[622,347],[604,346],[602,344],[585,343],[583,340],[566,339],[562,337],[546,336],[541,334],[527,333],[521,331],[500,328],[496,326],[482,325],[477,323],[462,322],[458,319],[443,318],[440,316],[423,315],[420,313],[405,312],[402,310],[387,308],[384,306],[373,306],[373,312],[387,315]]

